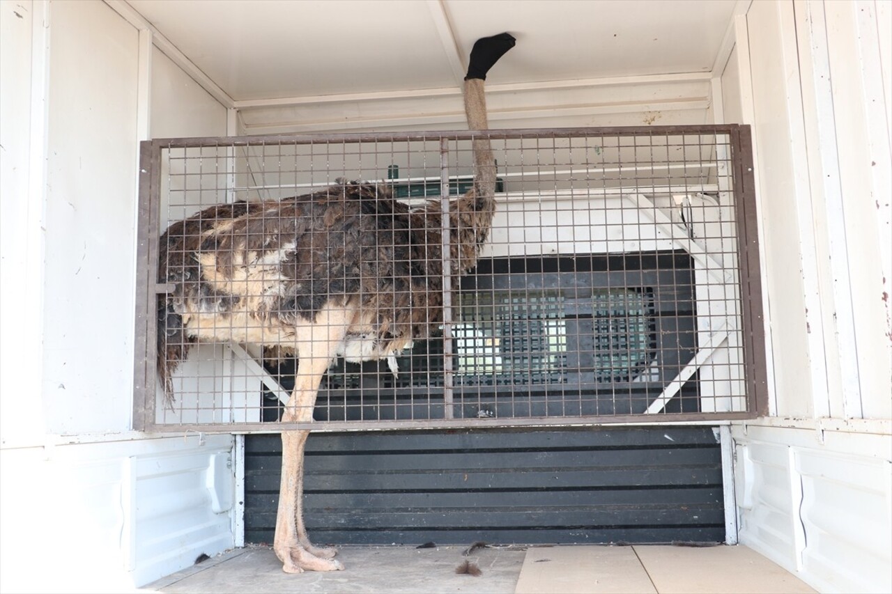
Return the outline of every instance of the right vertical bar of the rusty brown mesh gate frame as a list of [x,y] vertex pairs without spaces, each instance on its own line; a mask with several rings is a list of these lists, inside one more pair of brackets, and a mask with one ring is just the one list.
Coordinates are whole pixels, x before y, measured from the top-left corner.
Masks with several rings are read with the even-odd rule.
[[737,224],[747,410],[763,417],[768,414],[768,377],[759,265],[756,177],[753,172],[753,138],[749,126],[739,126],[731,132],[731,163],[734,172],[734,219]]

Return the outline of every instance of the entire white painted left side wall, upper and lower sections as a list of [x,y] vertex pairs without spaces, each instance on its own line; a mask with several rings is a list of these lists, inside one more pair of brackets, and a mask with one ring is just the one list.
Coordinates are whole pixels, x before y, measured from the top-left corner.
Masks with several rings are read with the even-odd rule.
[[[151,45],[97,0],[0,8],[0,590],[132,590],[234,543],[234,438],[126,433]],[[226,111],[160,62],[159,126],[224,134]]]

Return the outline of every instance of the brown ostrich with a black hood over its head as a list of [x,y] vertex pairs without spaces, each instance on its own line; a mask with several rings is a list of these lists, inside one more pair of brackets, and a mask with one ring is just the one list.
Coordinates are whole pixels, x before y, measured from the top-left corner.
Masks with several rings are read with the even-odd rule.
[[[487,128],[483,81],[515,43],[475,42],[465,78],[467,123]],[[472,188],[450,202],[450,274],[475,265],[493,211],[490,141],[473,140]],[[161,236],[158,370],[171,374],[196,342],[274,345],[297,356],[282,421],[310,423],[319,384],[336,358],[388,359],[442,322],[442,210],[412,210],[386,186],[339,182],[281,201],[221,204]],[[303,522],[303,453],[309,431],[282,432],[282,483],[273,544],[287,573],[343,569],[314,547]]]

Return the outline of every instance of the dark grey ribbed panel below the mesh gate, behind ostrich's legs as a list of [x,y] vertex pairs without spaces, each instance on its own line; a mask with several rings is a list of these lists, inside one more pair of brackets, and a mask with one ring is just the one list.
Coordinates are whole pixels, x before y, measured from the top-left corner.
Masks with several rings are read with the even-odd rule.
[[[270,542],[281,442],[245,438],[245,540]],[[319,433],[306,519],[335,544],[723,541],[709,427]]]

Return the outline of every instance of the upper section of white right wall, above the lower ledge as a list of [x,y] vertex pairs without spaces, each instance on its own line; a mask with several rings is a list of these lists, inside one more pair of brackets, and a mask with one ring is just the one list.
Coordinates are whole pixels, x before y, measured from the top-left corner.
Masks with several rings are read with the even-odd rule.
[[747,12],[739,96],[753,103],[780,415],[892,417],[883,18],[870,0]]

